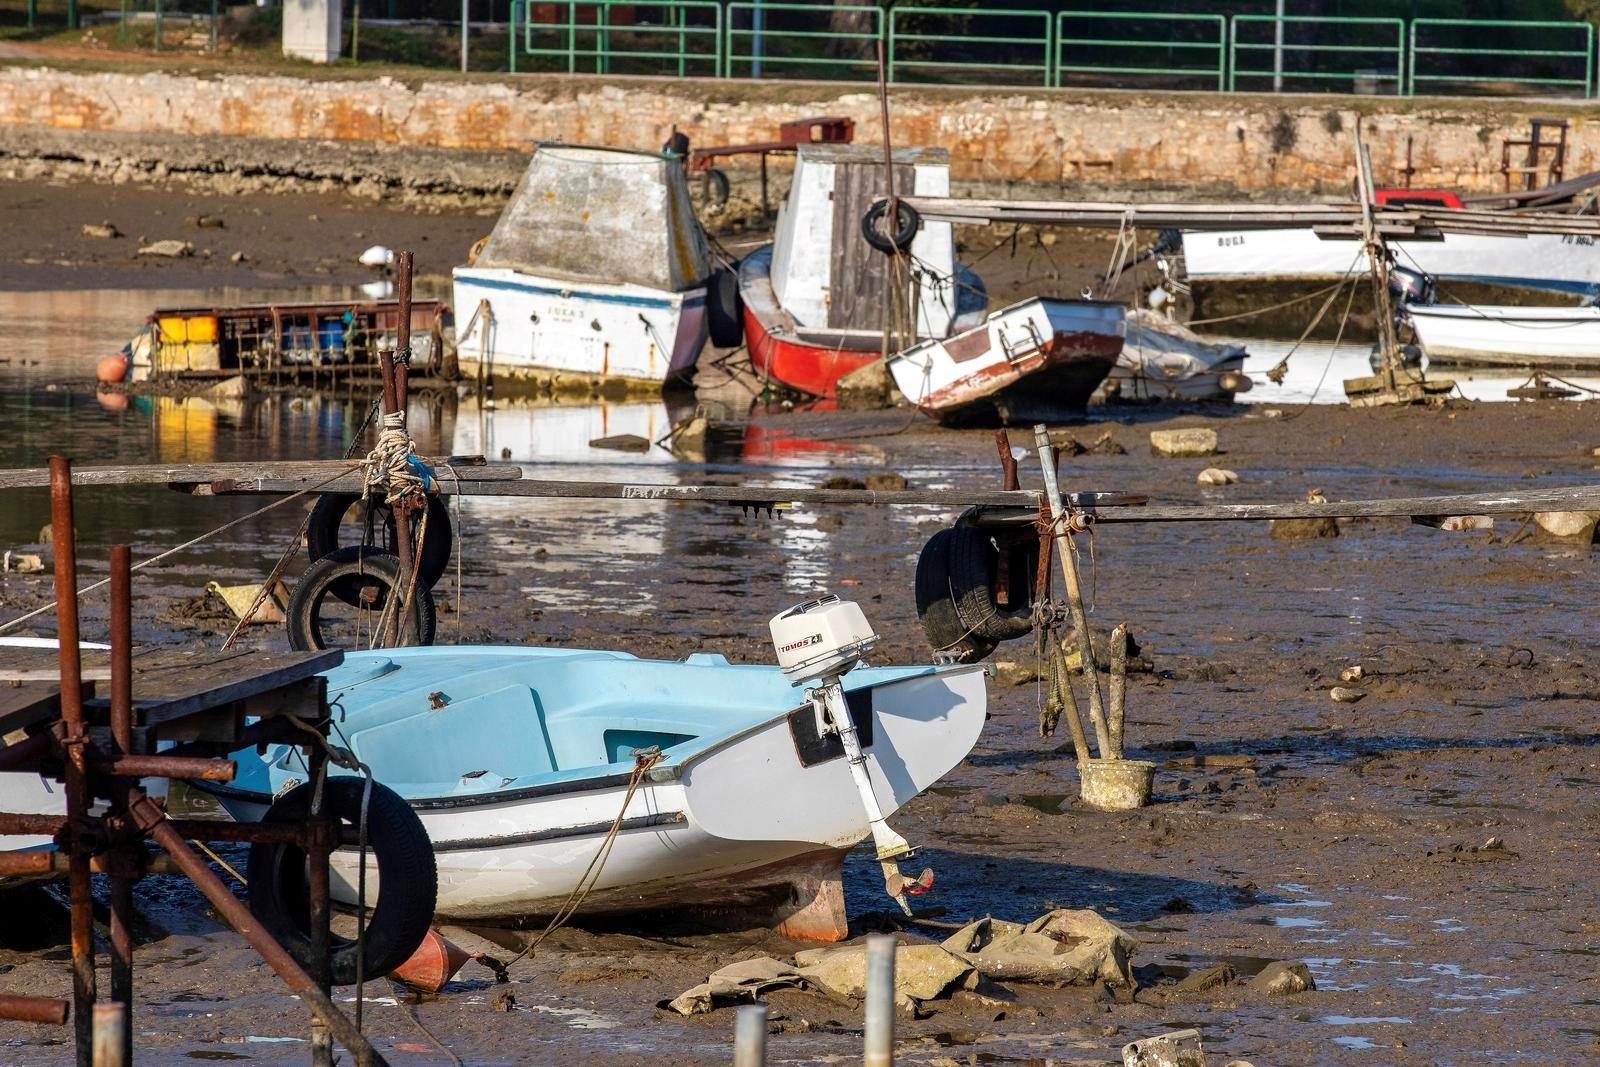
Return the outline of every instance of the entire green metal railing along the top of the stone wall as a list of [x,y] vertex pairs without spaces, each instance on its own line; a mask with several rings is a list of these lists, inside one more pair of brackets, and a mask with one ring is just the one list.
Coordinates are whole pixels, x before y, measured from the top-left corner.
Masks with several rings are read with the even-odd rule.
[[1589,22],[512,0],[510,30],[512,72],[870,82],[882,42],[896,83],[1600,94]]

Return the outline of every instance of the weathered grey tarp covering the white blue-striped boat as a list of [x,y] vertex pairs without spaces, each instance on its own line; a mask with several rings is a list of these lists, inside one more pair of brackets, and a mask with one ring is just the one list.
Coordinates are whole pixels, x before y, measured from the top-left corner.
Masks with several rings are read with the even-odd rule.
[[680,160],[541,144],[475,266],[677,293],[710,275],[710,254]]

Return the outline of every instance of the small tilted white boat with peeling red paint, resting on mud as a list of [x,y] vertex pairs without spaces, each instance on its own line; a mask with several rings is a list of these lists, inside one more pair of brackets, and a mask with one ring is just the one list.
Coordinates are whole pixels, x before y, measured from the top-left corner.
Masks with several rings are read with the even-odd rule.
[[946,422],[1037,422],[1083,414],[1117,363],[1126,309],[1032,298],[888,360],[899,390]]

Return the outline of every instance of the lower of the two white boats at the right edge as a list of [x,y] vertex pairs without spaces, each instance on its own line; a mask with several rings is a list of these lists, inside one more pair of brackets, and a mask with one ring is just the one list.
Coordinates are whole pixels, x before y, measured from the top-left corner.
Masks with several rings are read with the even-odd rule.
[[1430,363],[1594,370],[1600,307],[1410,304],[1405,320]]

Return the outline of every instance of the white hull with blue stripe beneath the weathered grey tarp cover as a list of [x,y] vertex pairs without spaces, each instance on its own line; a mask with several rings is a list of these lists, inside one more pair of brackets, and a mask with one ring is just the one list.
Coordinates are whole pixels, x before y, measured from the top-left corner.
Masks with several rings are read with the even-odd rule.
[[[541,278],[506,267],[459,267],[467,309],[456,339],[461,373],[634,382],[659,387],[693,373],[707,339],[706,288]],[[485,314],[486,309],[486,314]]]

